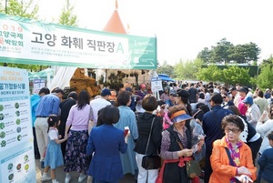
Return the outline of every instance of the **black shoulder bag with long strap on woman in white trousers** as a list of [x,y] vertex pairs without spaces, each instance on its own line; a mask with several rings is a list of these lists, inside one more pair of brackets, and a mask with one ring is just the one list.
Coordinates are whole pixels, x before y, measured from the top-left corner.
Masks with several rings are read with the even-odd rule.
[[147,155],[147,148],[150,142],[151,132],[152,132],[155,118],[156,117],[153,118],[152,125],[150,128],[150,133],[149,133],[146,152],[145,152],[146,155],[142,158],[142,162],[141,162],[141,167],[145,169],[157,169],[161,167],[161,158],[158,155]]

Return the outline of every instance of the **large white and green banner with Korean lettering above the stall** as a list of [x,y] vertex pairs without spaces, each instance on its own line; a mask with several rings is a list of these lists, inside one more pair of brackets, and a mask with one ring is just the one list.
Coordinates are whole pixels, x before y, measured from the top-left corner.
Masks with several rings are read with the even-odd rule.
[[0,14],[0,62],[156,69],[157,38],[92,31]]

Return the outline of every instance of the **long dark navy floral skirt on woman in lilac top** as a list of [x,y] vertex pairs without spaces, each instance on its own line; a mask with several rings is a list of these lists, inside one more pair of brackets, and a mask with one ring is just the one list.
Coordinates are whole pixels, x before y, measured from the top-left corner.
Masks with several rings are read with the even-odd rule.
[[88,158],[86,156],[86,146],[88,140],[88,131],[70,130],[66,142],[65,172],[76,171],[85,173],[88,170]]

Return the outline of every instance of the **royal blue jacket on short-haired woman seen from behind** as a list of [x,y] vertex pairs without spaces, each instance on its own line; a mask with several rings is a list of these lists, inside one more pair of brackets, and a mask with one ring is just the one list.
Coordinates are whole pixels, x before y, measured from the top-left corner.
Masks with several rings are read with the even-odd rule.
[[124,131],[111,125],[93,127],[88,138],[86,154],[94,156],[88,175],[97,181],[115,181],[123,178],[119,152],[126,153]]

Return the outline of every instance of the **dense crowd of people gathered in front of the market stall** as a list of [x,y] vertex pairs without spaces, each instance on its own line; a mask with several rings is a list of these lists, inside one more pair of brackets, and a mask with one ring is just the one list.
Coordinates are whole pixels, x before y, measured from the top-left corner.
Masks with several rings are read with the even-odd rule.
[[[160,98],[147,91],[147,84],[136,92],[120,86],[115,100],[107,88],[94,99],[85,90],[64,95],[60,88],[51,93],[42,88],[31,96],[42,181],[58,182],[59,166],[64,166],[66,183],[74,171],[78,182],[95,183],[117,183],[126,174],[138,183],[273,179],[270,89],[264,94],[240,84],[197,82],[167,85]],[[144,168],[147,156],[159,156],[162,167]],[[189,177],[187,162],[194,159],[204,171]]]

